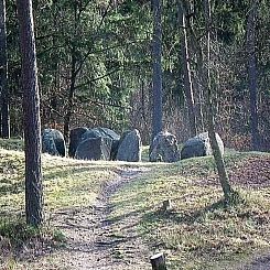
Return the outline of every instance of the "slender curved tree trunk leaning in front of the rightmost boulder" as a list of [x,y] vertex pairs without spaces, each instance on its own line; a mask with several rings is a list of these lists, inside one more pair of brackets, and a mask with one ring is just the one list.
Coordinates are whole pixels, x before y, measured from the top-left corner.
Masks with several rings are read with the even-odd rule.
[[[204,78],[203,85],[205,87],[205,95],[207,100],[207,121],[208,121],[208,136],[210,141],[210,147],[213,149],[213,154],[215,163],[217,166],[217,172],[219,176],[219,182],[224,192],[225,201],[229,202],[234,195],[233,188],[229,184],[229,179],[225,169],[224,159],[220,152],[220,149],[217,143],[216,133],[215,133],[215,120],[213,111],[213,101],[212,101],[212,85],[210,85],[210,3],[209,0],[204,0],[205,6],[205,22],[207,31],[207,51],[206,60],[204,61]],[[201,66],[203,66],[201,64]]]

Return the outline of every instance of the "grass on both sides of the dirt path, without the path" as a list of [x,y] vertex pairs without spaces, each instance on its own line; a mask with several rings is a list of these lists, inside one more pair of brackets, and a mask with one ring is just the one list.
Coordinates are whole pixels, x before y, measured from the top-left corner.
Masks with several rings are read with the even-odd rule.
[[[23,214],[23,152],[12,149],[21,150],[21,141],[0,140],[0,230],[3,220],[12,223]],[[235,175],[236,169],[257,158],[269,155],[231,153],[226,163]],[[235,181],[245,203],[224,208],[218,204],[222,191],[210,158],[138,165],[152,170],[116,194],[112,218],[139,213],[137,229],[153,250],[168,253],[170,269],[234,269],[234,263],[251,250],[269,248],[268,185],[256,188]],[[122,166],[43,155],[46,213],[91,205],[102,183],[115,179]],[[164,213],[161,205],[168,198],[173,209]]]

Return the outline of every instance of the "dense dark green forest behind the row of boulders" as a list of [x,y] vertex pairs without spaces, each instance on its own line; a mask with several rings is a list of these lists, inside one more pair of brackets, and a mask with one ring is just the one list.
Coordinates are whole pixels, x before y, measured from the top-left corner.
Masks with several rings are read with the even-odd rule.
[[[269,1],[256,2],[255,13],[250,0],[210,3],[209,69],[216,130],[227,147],[255,149],[251,112],[256,99],[260,148],[270,150]],[[184,8],[184,18],[180,7]],[[34,1],[33,8],[42,127],[56,127],[66,137],[77,126],[106,126],[118,132],[138,128],[143,142],[149,143],[153,100],[151,1],[42,0]],[[185,22],[185,31],[181,21]],[[19,34],[13,0],[7,1],[7,31],[11,134],[22,136]],[[187,60],[183,57],[184,44],[188,45]],[[199,83],[197,44],[205,55],[204,1],[163,1],[163,128],[175,133],[180,142],[195,132],[191,109],[195,114],[196,132],[206,130],[206,97]],[[255,72],[250,69],[251,60]],[[186,91],[186,66],[194,108]],[[250,96],[252,73],[256,95]]]

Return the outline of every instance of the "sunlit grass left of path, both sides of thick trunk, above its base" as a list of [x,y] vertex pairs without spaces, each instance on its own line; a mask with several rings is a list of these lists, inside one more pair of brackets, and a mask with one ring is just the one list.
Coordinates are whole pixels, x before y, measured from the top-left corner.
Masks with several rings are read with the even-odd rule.
[[[24,153],[0,151],[0,213],[24,212]],[[87,162],[42,155],[45,210],[91,205],[101,185],[117,177],[117,163]]]

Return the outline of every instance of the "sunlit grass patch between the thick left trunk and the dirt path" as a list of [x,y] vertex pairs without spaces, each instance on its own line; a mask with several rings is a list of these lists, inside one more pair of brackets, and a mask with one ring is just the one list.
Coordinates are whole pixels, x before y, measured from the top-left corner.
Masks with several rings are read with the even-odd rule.
[[[99,168],[100,166],[100,168]],[[89,163],[71,162],[44,170],[45,204],[52,209],[84,207],[94,203],[106,181],[117,177],[114,170]]]

